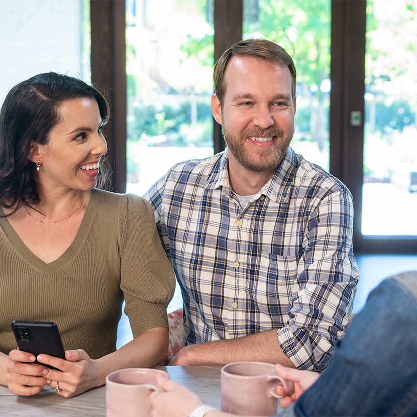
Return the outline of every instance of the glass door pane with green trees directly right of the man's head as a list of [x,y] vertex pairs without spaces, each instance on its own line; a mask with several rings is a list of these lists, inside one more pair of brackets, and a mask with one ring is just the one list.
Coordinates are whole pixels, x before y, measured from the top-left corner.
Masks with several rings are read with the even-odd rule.
[[297,70],[291,147],[329,170],[331,0],[243,0],[243,39],[281,45]]

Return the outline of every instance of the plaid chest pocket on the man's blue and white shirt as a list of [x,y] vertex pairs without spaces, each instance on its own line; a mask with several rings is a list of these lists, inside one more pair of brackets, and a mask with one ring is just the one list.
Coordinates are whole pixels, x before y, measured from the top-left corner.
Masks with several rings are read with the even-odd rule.
[[260,310],[269,315],[287,314],[287,306],[297,278],[297,256],[261,255],[255,299]]

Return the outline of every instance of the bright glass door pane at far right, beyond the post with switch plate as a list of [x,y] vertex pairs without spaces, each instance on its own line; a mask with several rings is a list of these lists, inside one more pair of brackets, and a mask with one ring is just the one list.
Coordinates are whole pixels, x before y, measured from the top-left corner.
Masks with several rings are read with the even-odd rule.
[[362,235],[417,236],[417,4],[368,0]]

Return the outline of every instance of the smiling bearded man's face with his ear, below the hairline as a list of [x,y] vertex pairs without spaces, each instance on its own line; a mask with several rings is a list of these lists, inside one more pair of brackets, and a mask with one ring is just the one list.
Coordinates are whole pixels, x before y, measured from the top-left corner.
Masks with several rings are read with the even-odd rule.
[[295,98],[285,65],[234,56],[225,73],[223,106],[212,98],[213,115],[233,159],[249,171],[275,171],[294,134]]

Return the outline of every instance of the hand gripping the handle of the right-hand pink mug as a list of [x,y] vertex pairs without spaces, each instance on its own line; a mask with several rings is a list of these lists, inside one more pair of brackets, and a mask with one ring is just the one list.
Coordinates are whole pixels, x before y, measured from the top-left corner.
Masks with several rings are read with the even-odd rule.
[[286,408],[288,405],[295,402],[301,394],[306,391],[312,384],[314,384],[320,377],[317,372],[301,371],[294,368],[286,368],[280,364],[275,365],[275,372],[284,379],[288,379],[294,382],[291,392],[285,392],[284,387],[281,384],[276,386],[276,392],[278,395],[282,395],[279,400],[281,408]]

